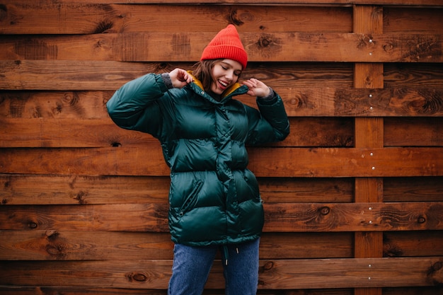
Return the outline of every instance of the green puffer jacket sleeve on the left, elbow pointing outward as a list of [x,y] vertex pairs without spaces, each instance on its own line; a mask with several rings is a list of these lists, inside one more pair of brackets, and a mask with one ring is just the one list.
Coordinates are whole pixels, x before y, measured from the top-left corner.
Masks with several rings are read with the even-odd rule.
[[146,74],[125,83],[106,103],[116,125],[159,136],[161,110],[159,100],[168,91],[161,75]]

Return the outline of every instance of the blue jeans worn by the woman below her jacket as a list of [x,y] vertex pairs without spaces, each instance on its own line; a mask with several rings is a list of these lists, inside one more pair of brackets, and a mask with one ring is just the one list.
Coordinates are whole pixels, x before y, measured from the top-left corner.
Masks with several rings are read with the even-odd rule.
[[259,243],[260,239],[226,246],[174,245],[168,295],[201,295],[219,249],[223,258],[225,294],[255,295],[258,284]]

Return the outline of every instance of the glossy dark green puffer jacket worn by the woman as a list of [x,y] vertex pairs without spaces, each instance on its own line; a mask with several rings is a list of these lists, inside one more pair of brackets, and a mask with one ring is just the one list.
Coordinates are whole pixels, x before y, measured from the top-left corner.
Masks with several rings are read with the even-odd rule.
[[217,101],[199,85],[168,89],[161,75],[146,74],[116,91],[108,112],[118,126],[161,142],[171,168],[168,221],[174,243],[252,241],[263,229],[263,204],[257,180],[246,168],[246,145],[287,137],[282,99],[277,93],[258,98],[258,112],[232,99],[247,86],[237,83]]

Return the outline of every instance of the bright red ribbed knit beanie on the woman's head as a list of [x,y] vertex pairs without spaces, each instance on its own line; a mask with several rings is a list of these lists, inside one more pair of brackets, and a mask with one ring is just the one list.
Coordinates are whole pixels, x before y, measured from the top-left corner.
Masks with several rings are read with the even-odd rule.
[[200,61],[204,59],[232,59],[239,62],[243,69],[246,68],[248,54],[234,25],[228,25],[215,35],[203,50]]

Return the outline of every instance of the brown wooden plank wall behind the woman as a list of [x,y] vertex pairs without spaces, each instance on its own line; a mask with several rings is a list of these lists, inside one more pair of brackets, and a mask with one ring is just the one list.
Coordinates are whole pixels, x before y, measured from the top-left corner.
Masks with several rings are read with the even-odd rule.
[[0,0],[1,294],[166,294],[168,169],[105,103],[228,23],[292,128],[249,149],[258,294],[443,294],[442,0]]

